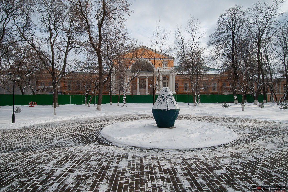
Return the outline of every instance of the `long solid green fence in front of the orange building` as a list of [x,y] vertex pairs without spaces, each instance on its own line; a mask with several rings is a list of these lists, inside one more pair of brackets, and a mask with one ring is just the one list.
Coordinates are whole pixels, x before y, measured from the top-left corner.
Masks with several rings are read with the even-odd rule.
[[[88,96],[88,100],[90,99]],[[155,95],[155,99],[158,95]],[[176,102],[193,102],[192,95],[185,94],[175,94],[174,98]],[[237,95],[238,102],[242,102],[242,94]],[[267,98],[266,98],[267,99]],[[15,105],[28,105],[30,101],[34,101],[37,105],[52,105],[53,95],[48,94],[38,94],[38,95],[15,95]],[[93,96],[91,104],[97,103],[98,95]],[[118,95],[112,95],[112,103],[117,103]],[[122,103],[123,95],[120,95],[119,102]],[[233,95],[200,95],[201,103],[222,103],[224,101],[228,103],[233,103]],[[259,95],[259,102],[263,102],[263,95]],[[152,103],[153,95],[126,95],[127,103]],[[198,97],[197,97],[198,102]],[[254,102],[252,95],[247,95],[247,102]],[[85,103],[84,95],[58,95],[58,103],[60,105],[66,104],[76,104],[82,105]],[[103,95],[102,103],[110,103],[110,95]],[[0,94],[0,106],[3,105],[13,105],[13,95],[12,94]]]

